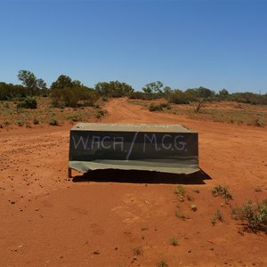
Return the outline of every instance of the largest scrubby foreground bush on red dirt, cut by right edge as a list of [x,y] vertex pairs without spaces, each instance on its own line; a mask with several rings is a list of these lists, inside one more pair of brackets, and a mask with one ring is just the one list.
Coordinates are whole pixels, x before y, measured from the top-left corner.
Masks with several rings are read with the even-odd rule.
[[232,217],[241,220],[245,228],[267,233],[267,198],[262,202],[247,200],[244,205],[232,209]]

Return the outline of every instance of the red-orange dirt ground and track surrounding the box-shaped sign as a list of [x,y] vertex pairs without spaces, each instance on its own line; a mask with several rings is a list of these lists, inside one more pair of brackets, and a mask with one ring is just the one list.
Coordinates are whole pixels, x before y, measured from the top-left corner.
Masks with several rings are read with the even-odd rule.
[[[267,235],[243,231],[231,219],[231,206],[267,198],[266,128],[150,112],[126,99],[105,109],[106,123],[182,124],[198,131],[200,167],[212,179],[185,182],[193,200],[184,202],[174,195],[174,182],[129,182],[128,173],[120,174],[125,182],[105,172],[100,177],[110,182],[73,182],[71,125],[0,129],[0,266],[157,266],[161,260],[168,266],[267,266]],[[230,205],[211,194],[219,184],[229,187]],[[190,219],[177,218],[177,206]],[[223,222],[213,226],[217,209]],[[170,244],[173,238],[178,246]]]

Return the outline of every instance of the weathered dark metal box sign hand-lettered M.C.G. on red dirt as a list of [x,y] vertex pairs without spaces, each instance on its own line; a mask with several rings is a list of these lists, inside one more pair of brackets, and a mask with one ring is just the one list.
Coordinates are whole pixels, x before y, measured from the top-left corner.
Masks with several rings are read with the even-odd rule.
[[182,125],[77,124],[70,130],[69,167],[198,171],[198,133]]

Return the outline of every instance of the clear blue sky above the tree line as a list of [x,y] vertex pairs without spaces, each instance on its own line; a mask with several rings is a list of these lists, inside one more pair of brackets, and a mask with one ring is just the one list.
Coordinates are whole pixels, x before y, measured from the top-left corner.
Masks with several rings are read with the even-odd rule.
[[267,93],[267,1],[0,0],[0,81],[20,69],[135,90]]

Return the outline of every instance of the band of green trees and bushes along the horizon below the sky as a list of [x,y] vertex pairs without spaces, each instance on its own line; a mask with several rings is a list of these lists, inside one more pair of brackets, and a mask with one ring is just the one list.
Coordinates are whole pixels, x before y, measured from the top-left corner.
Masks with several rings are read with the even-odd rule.
[[82,107],[93,106],[101,97],[129,97],[141,100],[165,98],[175,104],[188,104],[192,101],[239,101],[267,105],[267,93],[229,93],[226,89],[215,93],[214,90],[203,86],[182,91],[164,86],[160,81],[147,84],[142,88],[142,92],[136,92],[131,85],[119,81],[99,82],[94,88],[89,88],[67,75],[59,76],[48,88],[42,78],[37,78],[28,70],[20,70],[18,79],[22,85],[0,82],[0,101],[25,101],[44,96],[51,97],[53,107]]

